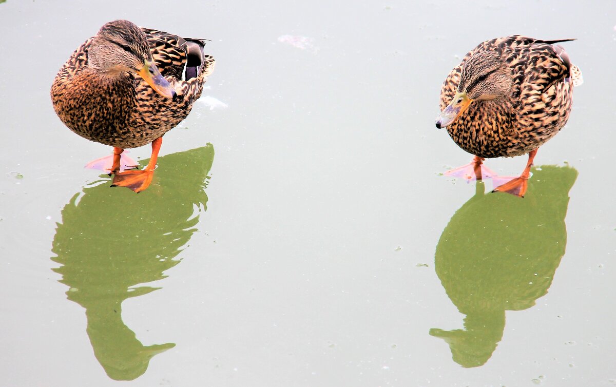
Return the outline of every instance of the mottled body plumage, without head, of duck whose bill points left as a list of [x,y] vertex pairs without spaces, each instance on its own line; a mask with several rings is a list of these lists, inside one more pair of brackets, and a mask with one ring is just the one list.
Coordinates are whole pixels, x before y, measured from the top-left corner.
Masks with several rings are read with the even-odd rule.
[[573,88],[570,67],[544,41],[524,36],[491,39],[466,54],[447,76],[441,88],[441,110],[458,91],[464,64],[472,55],[488,50],[500,54],[511,71],[509,96],[472,102],[447,131],[462,149],[479,157],[523,155],[567,123]]

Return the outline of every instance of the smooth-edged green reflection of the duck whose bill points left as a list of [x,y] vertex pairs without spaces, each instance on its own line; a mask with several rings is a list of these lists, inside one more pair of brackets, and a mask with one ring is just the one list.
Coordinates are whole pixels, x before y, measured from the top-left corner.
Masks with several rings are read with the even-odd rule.
[[577,171],[533,168],[522,199],[484,194],[484,184],[443,230],[435,269],[447,295],[466,315],[464,329],[430,335],[449,344],[453,361],[479,367],[503,337],[505,311],[530,308],[545,295],[567,244],[565,215]]

